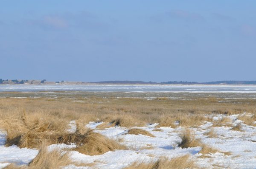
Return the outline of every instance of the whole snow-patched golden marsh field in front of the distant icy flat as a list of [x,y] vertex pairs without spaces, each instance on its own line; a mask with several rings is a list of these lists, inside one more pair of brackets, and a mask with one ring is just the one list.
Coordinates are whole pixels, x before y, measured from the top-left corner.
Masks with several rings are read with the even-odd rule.
[[251,95],[1,92],[0,167],[253,169]]

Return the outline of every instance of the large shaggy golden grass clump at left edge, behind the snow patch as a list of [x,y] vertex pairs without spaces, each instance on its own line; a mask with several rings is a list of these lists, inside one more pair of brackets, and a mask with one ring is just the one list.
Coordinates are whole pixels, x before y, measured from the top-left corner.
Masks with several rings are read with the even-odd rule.
[[44,141],[55,144],[57,133],[64,132],[66,126],[67,121],[49,114],[27,115],[25,111],[0,123],[0,128],[7,132],[6,146],[15,144],[21,148],[38,148]]

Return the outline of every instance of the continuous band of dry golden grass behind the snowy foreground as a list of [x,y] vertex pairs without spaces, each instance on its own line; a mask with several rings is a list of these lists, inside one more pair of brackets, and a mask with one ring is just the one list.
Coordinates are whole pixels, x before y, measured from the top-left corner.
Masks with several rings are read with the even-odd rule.
[[[54,124],[55,120],[57,122],[58,120],[63,121],[63,124],[67,124],[70,120],[79,120],[82,124],[87,124],[89,121],[104,121],[105,124],[102,124],[99,128],[115,125],[135,127],[143,126],[147,123],[159,123],[158,127],[193,127],[203,124],[204,121],[212,121],[205,116],[206,114],[221,113],[230,115],[244,111],[251,114],[256,112],[254,106],[256,101],[253,99],[241,99],[239,100],[240,104],[236,104],[232,100],[218,102],[218,99],[216,101],[215,98],[195,100],[80,98],[80,100],[84,102],[73,102],[72,99],[65,98],[52,99],[51,101],[47,98],[1,98],[0,117],[1,120],[15,117],[12,123],[15,123],[15,120],[20,123],[22,121],[21,118],[16,117],[20,117],[25,109],[29,118],[24,116],[23,121],[25,122],[27,119],[29,124],[32,124],[31,121],[33,121],[32,117],[34,116],[37,119],[48,117],[49,120],[54,119],[49,125]],[[45,121],[49,122],[48,120]],[[179,124],[175,125],[175,121],[179,121]],[[226,122],[218,121],[218,123]]]

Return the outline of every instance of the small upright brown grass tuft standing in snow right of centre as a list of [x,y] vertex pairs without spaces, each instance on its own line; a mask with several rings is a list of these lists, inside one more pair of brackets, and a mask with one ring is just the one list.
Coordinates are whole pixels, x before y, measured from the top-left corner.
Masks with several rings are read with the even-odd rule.
[[195,136],[191,133],[189,129],[184,130],[182,133],[180,133],[180,138],[181,142],[178,143],[178,146],[181,148],[201,146],[200,141],[195,139]]

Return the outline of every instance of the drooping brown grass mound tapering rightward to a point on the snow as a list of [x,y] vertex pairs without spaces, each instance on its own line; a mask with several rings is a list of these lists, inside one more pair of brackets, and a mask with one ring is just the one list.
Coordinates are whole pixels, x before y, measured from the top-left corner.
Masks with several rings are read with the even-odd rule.
[[59,142],[65,144],[76,143],[77,147],[74,150],[86,155],[101,155],[116,149],[127,149],[126,146],[93,132],[93,130],[88,130],[84,134],[80,132],[64,134],[59,138]]

